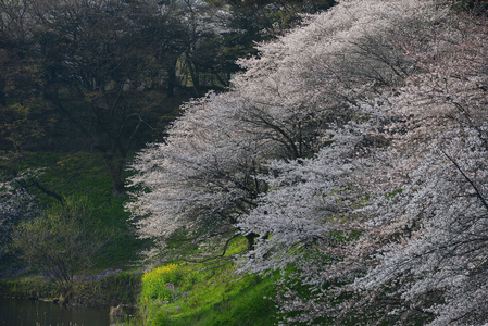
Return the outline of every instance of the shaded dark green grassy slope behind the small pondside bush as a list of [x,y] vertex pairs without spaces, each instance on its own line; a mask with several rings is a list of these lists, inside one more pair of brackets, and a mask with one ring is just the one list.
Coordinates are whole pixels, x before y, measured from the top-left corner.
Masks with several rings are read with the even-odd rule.
[[[124,211],[124,196],[113,196],[110,177],[98,153],[25,153],[13,163],[20,170],[41,168],[37,180],[55,193],[66,197],[84,198],[83,210],[89,210],[92,224],[104,228],[110,235],[103,248],[95,255],[97,268],[121,268],[138,260],[138,251],[143,241],[137,240],[132,233],[129,216]],[[40,204],[49,210],[58,201],[43,192],[33,189],[41,199]]]

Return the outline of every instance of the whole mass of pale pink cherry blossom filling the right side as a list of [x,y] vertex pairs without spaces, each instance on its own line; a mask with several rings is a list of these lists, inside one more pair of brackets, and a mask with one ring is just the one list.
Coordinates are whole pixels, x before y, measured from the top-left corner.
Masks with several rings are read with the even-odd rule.
[[141,234],[248,237],[242,272],[310,289],[284,278],[284,322],[483,324],[487,35],[450,1],[343,0],[260,45],[133,164]]

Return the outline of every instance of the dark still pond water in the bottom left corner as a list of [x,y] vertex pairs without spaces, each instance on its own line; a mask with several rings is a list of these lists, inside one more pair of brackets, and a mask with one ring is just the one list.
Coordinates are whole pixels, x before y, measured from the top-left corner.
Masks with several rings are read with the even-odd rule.
[[0,299],[0,326],[109,326],[111,322],[108,308]]

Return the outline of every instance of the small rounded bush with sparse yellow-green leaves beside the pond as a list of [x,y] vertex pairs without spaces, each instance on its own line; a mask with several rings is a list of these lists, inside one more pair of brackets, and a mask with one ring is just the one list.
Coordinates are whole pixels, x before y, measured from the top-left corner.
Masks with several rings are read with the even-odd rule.
[[86,273],[109,235],[96,224],[85,199],[65,199],[42,216],[20,223],[13,247],[33,267],[46,271],[64,298],[74,293],[75,276]]

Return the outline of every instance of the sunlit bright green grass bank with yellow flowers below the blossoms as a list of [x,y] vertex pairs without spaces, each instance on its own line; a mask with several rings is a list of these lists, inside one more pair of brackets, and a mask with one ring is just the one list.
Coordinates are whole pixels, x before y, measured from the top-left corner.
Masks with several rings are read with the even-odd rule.
[[233,264],[184,264],[146,273],[141,309],[148,325],[274,325],[275,304],[264,297],[274,296],[276,277],[238,278],[234,272]]

